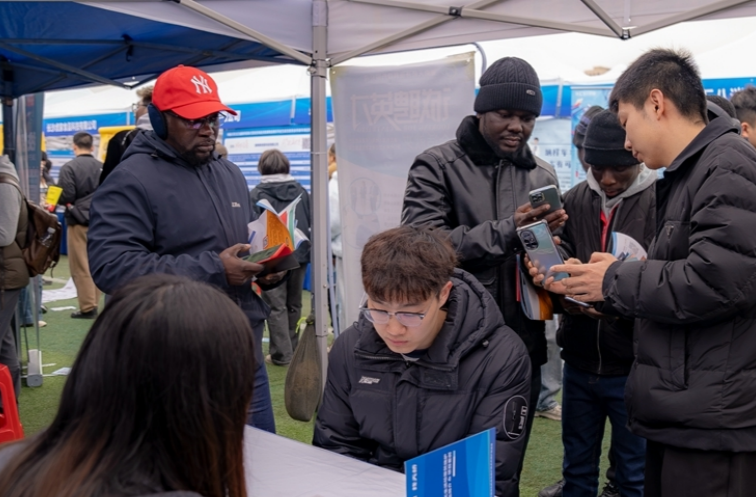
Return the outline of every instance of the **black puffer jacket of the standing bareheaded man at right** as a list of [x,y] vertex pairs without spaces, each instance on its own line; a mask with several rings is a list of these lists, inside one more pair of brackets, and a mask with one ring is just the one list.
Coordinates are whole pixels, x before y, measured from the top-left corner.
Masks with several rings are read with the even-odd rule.
[[[721,122],[720,122],[721,121]],[[645,262],[617,262],[605,306],[640,318],[625,392],[633,433],[756,451],[756,149],[714,119],[657,184]]]

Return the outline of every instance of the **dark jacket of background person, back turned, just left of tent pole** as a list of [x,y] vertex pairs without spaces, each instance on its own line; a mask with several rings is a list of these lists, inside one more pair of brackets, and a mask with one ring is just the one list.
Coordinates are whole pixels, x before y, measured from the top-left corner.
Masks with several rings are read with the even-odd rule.
[[[289,175],[272,174],[263,176],[263,182],[255,186],[251,192],[249,192],[249,199],[252,204],[252,210],[257,216],[262,214],[263,208],[257,205],[260,200],[266,199],[270,202],[270,205],[280,212],[287,205],[292,203],[294,199],[302,196],[302,200],[297,204],[295,215],[297,219],[297,228],[302,233],[312,240],[312,234],[310,233],[310,224],[312,219],[311,206],[310,206],[310,194],[304,189],[295,179],[287,178]],[[266,181],[266,178],[268,181]],[[297,262],[300,266],[304,267],[310,262],[310,242],[302,242],[302,244],[294,252]]]

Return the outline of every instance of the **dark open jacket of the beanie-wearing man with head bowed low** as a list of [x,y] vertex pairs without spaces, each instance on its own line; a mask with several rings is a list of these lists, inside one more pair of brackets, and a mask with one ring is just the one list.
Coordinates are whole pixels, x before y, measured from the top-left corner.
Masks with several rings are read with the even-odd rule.
[[[570,218],[562,231],[567,257],[588,262],[594,252],[612,250],[612,232],[625,234],[648,250],[656,234],[656,171],[642,166],[623,193],[607,198],[589,173],[588,179],[564,196]],[[635,359],[634,319],[563,314],[557,343],[570,366],[598,375],[627,375]]]

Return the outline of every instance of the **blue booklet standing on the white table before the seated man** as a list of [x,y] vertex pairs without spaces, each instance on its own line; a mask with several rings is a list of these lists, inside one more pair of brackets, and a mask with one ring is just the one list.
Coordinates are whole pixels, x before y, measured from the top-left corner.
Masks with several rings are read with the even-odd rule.
[[407,497],[493,497],[496,428],[404,463]]

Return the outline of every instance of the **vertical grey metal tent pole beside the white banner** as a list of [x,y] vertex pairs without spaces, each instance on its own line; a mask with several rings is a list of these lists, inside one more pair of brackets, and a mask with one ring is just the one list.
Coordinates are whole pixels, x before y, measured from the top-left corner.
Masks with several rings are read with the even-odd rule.
[[328,5],[325,0],[312,2],[311,129],[312,164],[312,291],[315,296],[315,334],[323,367],[325,389],[328,371],[328,157],[326,136],[326,76],[328,74]]

